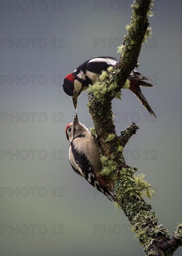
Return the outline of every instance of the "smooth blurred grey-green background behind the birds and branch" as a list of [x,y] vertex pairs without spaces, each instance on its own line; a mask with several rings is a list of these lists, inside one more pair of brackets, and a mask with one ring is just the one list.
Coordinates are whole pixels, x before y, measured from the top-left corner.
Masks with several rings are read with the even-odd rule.
[[[144,255],[123,212],[71,168],[65,127],[74,108],[62,89],[82,62],[119,58],[131,3],[1,1],[2,256]],[[153,186],[153,210],[172,234],[182,214],[181,5],[155,2],[153,33],[138,60],[155,85],[142,92],[157,120],[129,90],[112,105],[118,135],[132,121],[140,128],[125,159]],[[84,92],[78,118],[89,128],[87,101]]]

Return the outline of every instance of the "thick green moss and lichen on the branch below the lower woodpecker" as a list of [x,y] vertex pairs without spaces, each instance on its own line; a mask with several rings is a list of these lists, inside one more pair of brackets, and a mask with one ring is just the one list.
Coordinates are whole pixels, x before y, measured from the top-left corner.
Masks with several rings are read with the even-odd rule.
[[[136,233],[139,242],[147,255],[153,255],[153,243],[157,236],[169,238],[169,232],[163,225],[157,225],[155,212],[151,212],[151,206],[141,198],[141,191],[148,188],[150,185],[143,181],[144,175],[133,178],[133,173],[138,171],[138,168],[122,168],[115,176],[115,192],[117,199],[122,202],[122,209],[129,217],[132,225],[132,230]],[[137,183],[136,183],[137,180]],[[144,184],[144,185],[143,185]],[[125,204],[125,202],[127,202]],[[156,254],[154,254],[156,255]]]

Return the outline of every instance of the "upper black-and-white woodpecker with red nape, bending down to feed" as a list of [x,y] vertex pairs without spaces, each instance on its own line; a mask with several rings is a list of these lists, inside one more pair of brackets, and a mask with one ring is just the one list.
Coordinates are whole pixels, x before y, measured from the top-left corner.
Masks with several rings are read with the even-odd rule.
[[[73,73],[68,74],[63,82],[63,89],[66,94],[72,97],[75,109],[77,108],[78,96],[82,91],[86,90],[89,84],[93,84],[99,79],[103,70],[107,70],[110,66],[115,66],[117,59],[112,57],[97,57],[85,61],[77,67]],[[148,101],[143,96],[140,86],[153,87],[152,84],[146,82],[150,79],[133,70],[128,78],[130,80],[130,90],[136,95],[138,100],[149,111],[151,115],[155,115]],[[146,80],[146,81],[145,81]]]

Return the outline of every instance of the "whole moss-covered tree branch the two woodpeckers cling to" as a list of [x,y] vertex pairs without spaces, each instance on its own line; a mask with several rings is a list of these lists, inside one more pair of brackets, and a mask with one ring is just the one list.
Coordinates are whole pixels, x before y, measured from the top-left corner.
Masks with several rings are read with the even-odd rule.
[[[182,225],[178,226],[171,239],[169,231],[163,225],[157,225],[155,212],[143,200],[141,182],[137,182],[134,176],[137,168],[130,168],[123,157],[123,147],[136,133],[137,126],[132,124],[121,136],[117,136],[111,110],[112,99],[120,98],[121,88],[128,86],[127,78],[136,67],[142,42],[150,32],[148,17],[151,6],[152,0],[134,1],[130,25],[127,26],[128,33],[120,48],[120,60],[89,88],[88,107],[103,152],[102,175],[112,178],[119,205],[128,217],[146,255],[169,256],[182,244]],[[148,193],[150,185],[145,181],[142,184]]]

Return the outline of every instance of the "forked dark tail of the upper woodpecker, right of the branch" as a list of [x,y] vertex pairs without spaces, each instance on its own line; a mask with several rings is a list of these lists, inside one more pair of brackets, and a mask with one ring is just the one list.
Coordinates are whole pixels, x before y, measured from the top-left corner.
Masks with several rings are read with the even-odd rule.
[[136,95],[138,100],[149,111],[149,113],[156,117],[156,115],[155,115],[154,111],[151,109],[148,101],[143,96],[140,86],[153,87],[153,85],[150,83],[147,83],[145,81],[130,80],[130,90]]

